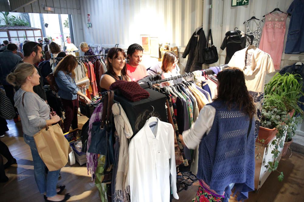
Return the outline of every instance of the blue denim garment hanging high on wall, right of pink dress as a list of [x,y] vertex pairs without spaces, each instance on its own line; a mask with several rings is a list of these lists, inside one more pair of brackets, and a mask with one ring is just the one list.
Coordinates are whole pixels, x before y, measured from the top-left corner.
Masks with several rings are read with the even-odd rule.
[[285,53],[299,54],[304,52],[304,1],[294,0],[287,12],[291,14],[288,28]]

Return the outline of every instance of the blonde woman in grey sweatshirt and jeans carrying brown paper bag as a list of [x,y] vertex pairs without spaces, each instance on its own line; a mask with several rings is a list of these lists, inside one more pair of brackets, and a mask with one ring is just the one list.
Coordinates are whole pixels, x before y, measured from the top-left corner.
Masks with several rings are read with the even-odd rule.
[[38,71],[33,65],[21,63],[6,77],[6,81],[20,87],[14,96],[15,107],[21,118],[24,141],[32,152],[34,176],[39,192],[45,194],[44,198],[47,201],[66,201],[70,198],[69,194],[59,195],[65,186],[56,189],[60,170],[49,171],[46,175],[46,166],[38,154],[33,137],[43,127],[60,121],[58,115],[50,114],[49,105],[33,90],[34,86],[39,85],[39,78]]

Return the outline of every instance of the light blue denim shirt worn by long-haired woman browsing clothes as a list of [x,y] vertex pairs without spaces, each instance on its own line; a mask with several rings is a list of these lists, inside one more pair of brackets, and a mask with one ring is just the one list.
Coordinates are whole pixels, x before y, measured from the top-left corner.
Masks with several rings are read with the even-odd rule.
[[72,77],[72,73],[64,73],[63,71],[58,71],[55,81],[58,85],[59,91],[58,95],[60,98],[66,100],[76,100],[77,92],[79,89],[75,83],[75,79]]

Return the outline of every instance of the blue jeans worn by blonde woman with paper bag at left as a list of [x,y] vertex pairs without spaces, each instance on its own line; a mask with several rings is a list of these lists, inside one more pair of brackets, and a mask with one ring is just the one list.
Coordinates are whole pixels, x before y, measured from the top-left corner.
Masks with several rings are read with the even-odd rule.
[[47,192],[47,197],[55,196],[57,194],[56,186],[60,169],[57,171],[49,171],[46,175],[46,165],[43,163],[42,159],[38,154],[34,137],[23,134],[23,138],[26,144],[28,144],[31,148],[32,157],[34,161],[34,175],[40,194],[44,194],[45,192]]

